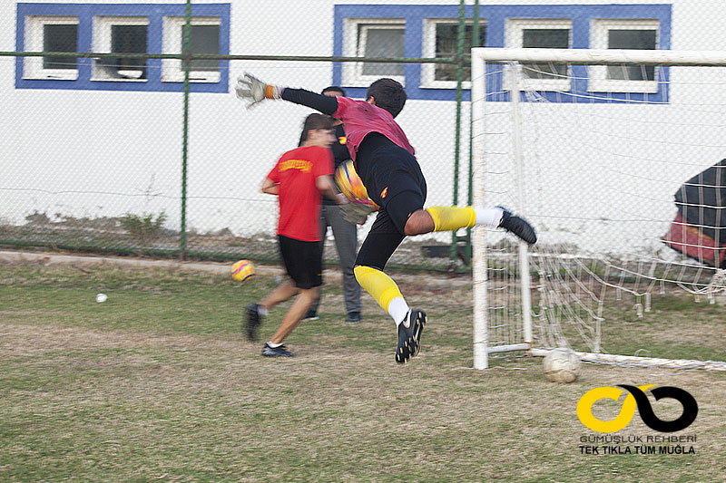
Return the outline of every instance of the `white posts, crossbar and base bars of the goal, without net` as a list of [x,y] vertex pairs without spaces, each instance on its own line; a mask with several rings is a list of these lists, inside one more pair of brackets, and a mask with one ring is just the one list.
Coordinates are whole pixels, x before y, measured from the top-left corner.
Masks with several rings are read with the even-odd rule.
[[[726,52],[692,52],[692,51],[653,51],[653,50],[582,50],[582,49],[503,49],[503,48],[474,48],[472,54],[472,157],[474,166],[473,179],[473,203],[474,206],[483,207],[485,204],[485,166],[486,157],[486,75],[487,63],[569,63],[573,65],[665,65],[665,66],[701,66],[721,67],[726,66]],[[515,68],[515,65],[508,67]],[[502,91],[520,92],[516,83],[516,75],[508,75],[511,82],[508,86],[500,89]],[[513,137],[515,138],[513,161],[515,176],[521,174],[523,162],[521,146],[521,133],[519,129],[520,120],[517,118],[519,102],[518,95],[509,96],[508,109],[512,110]],[[515,209],[526,216],[525,199],[520,192],[515,196],[518,206]],[[523,327],[520,331],[520,340],[507,343],[490,343],[489,333],[489,304],[487,301],[487,285],[489,268],[487,266],[486,254],[486,229],[475,227],[473,229],[473,277],[474,277],[474,368],[486,369],[488,366],[489,354],[503,353],[510,351],[525,351],[531,355],[542,356],[547,349],[535,347],[532,327],[532,307],[529,301],[529,256],[528,249],[524,242],[518,246],[519,256],[519,297],[522,304],[521,313]],[[599,330],[599,326],[598,326]],[[659,366],[681,369],[701,368],[708,370],[726,371],[725,362],[701,362],[657,359],[650,357],[637,357],[617,354],[598,353],[596,347],[594,353],[578,353],[585,361],[623,363],[631,365]]]

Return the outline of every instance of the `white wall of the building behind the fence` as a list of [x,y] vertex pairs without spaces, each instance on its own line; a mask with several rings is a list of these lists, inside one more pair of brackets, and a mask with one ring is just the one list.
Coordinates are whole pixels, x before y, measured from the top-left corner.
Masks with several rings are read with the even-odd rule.
[[[96,0],[94,3],[102,2]],[[139,2],[109,0],[108,3]],[[214,2],[195,0],[194,3]],[[472,3],[468,2],[469,5]],[[572,2],[486,2],[487,5],[545,3],[567,5]],[[576,3],[603,2],[580,0]],[[666,2],[609,0],[607,3],[643,5]],[[457,5],[458,2],[419,0],[369,4]],[[231,0],[230,51],[330,55],[334,5],[336,2],[329,0],[312,0],[304,6],[282,0]],[[672,49],[726,51],[726,38],[721,34],[722,25],[726,24],[726,5],[719,0],[673,0],[672,5]],[[15,2],[0,3],[0,18],[4,19],[0,21],[3,26],[0,28],[0,50],[13,51]],[[230,85],[240,72],[246,70],[269,82],[314,91],[329,85],[332,79],[331,66],[326,63],[233,62],[230,72],[226,72],[230,76]],[[533,141],[531,148],[537,151],[538,159],[544,160],[539,167],[528,167],[535,170],[536,176],[540,176],[537,169],[544,171],[541,179],[548,180],[537,188],[530,187],[533,190],[530,197],[539,200],[537,203],[541,209],[533,211],[533,214],[553,240],[566,239],[563,234],[579,229],[568,226],[564,220],[572,214],[578,200],[594,196],[597,209],[587,213],[588,218],[610,216],[615,211],[622,212],[623,216],[645,212],[648,213],[645,217],[656,217],[661,222],[667,220],[672,217],[668,197],[672,196],[674,184],[726,157],[722,154],[722,140],[725,138],[721,112],[726,99],[722,85],[723,71],[703,70],[697,74],[700,77],[693,77],[692,72],[674,70],[672,75],[672,102],[689,106],[685,108],[688,116],[684,118],[677,111],[671,111],[666,118],[674,123],[672,127],[663,131],[662,125],[652,126],[651,138],[663,142],[651,142],[645,148],[634,144],[627,148],[631,152],[648,150],[647,155],[643,152],[643,158],[666,159],[653,161],[654,164],[639,171],[650,179],[662,179],[660,184],[655,181],[646,183],[654,190],[646,198],[657,198],[657,202],[623,196],[623,192],[634,193],[643,188],[639,178],[622,182],[607,179],[612,171],[631,168],[623,166],[627,165],[623,159],[613,160],[611,164],[605,156],[597,161],[599,169],[582,169],[589,166],[589,162],[573,146],[588,145],[587,152],[592,153],[594,146],[601,143],[601,152],[614,152],[618,147],[623,148],[623,137],[613,136],[603,141],[602,138],[589,138],[586,132],[576,136],[571,134],[584,122],[594,122],[597,118],[593,115],[598,113],[603,113],[604,117],[634,116],[646,121],[647,116],[643,118],[633,111],[610,112],[608,110],[613,108],[603,105],[594,108],[540,106],[541,111],[549,110],[546,121],[543,122],[541,116],[531,116],[531,119],[539,120],[537,129],[542,137],[563,140],[559,144],[535,144]],[[681,87],[682,82],[701,83]],[[704,117],[698,115],[699,109],[695,107],[702,100],[705,101],[701,111],[708,111]],[[158,213],[164,210],[169,216],[167,226],[179,227],[181,93],[15,89],[15,59],[2,57],[0,101],[3,106],[0,131],[4,140],[0,143],[0,220],[20,224],[26,215],[34,211],[45,212],[51,217],[55,214],[115,217],[126,212]],[[646,106],[639,111],[648,114],[651,108]],[[468,152],[467,111],[466,107],[462,173],[466,173]],[[188,226],[202,232],[227,227],[238,235],[272,231],[276,217],[275,200],[259,193],[259,186],[280,153],[295,146],[301,121],[308,112],[286,102],[266,102],[246,111],[234,97],[232,87],[227,94],[193,94],[190,106]],[[661,112],[653,115],[661,116]],[[414,100],[407,103],[398,118],[417,148],[418,159],[427,175],[429,205],[451,202],[455,113],[456,105],[452,101]],[[706,125],[696,131],[692,128],[679,129],[678,122],[681,120]],[[623,126],[617,121],[614,125]],[[642,134],[646,138],[649,136],[648,132]],[[602,142],[610,144],[602,147]],[[698,144],[709,147],[693,148]],[[674,149],[673,146],[680,148]],[[569,154],[561,156],[563,151]],[[689,159],[689,162],[677,163],[677,159]],[[574,182],[576,176],[582,177],[583,181]],[[613,183],[617,186],[612,186]],[[464,177],[459,186],[460,199],[466,199]],[[561,199],[567,201],[562,203]],[[506,196],[503,200],[512,201]],[[633,203],[642,203],[643,211],[635,210]],[[642,227],[634,229],[642,231]],[[652,234],[645,238],[651,240],[661,227],[649,229]],[[442,237],[449,239],[448,235]],[[594,237],[599,236],[595,234]],[[587,239],[592,238],[592,235],[578,235],[577,240],[587,244]]]

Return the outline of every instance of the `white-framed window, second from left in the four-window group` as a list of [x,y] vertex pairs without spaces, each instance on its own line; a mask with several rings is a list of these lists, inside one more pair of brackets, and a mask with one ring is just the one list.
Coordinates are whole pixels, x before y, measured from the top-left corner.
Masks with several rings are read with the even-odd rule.
[[[424,24],[424,57],[454,57],[458,50],[458,20],[426,19]],[[484,45],[486,25],[479,24],[477,45]],[[464,52],[469,53],[474,35],[474,24],[467,20],[464,25]],[[422,66],[422,87],[442,89],[456,88],[456,65],[427,63]],[[465,89],[471,86],[471,67],[464,68]]]

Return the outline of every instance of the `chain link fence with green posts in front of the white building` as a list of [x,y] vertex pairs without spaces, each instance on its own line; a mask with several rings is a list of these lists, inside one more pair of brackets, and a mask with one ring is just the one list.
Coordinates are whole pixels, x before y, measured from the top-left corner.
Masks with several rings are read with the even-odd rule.
[[[726,50],[718,34],[726,7],[715,0],[478,4],[2,3],[0,245],[277,260],[277,200],[262,194],[260,185],[280,154],[297,145],[310,110],[285,101],[245,109],[233,94],[243,72],[314,92],[340,85],[356,99],[363,99],[366,86],[379,77],[403,82],[409,100],[397,121],[427,177],[427,205],[465,205],[471,200],[471,74],[466,53],[472,45]],[[562,65],[535,67],[545,97],[555,105],[553,112],[563,113],[540,121],[543,129],[554,130],[554,121],[574,111],[561,100],[562,92],[585,81],[565,79],[569,74]],[[634,76],[647,83],[660,72],[640,66],[620,71],[606,75],[617,73],[625,80]],[[667,82],[678,85],[680,74],[672,72]],[[720,84],[717,79],[712,85],[694,82],[687,90],[673,88],[659,102],[681,102],[679,96],[686,92],[704,105],[719,106]],[[635,99],[634,92],[616,95]],[[532,109],[543,111],[540,106]],[[576,127],[603,124],[595,115],[603,109],[601,103],[582,108],[587,116],[575,121]],[[697,111],[689,108],[688,115]],[[662,131],[657,119],[644,122]],[[722,125],[718,119],[710,122]],[[698,123],[693,121],[694,138]],[[497,150],[496,131],[512,128],[509,121],[497,121],[487,130],[495,132],[487,135],[487,154],[496,159],[500,153],[490,152]],[[537,146],[571,138],[559,130],[541,144],[525,140],[535,150],[526,159],[527,169],[544,166],[537,161],[537,156],[544,157]],[[692,142],[713,146],[709,159],[698,161],[704,167],[722,159],[717,154],[721,141]],[[592,173],[598,161],[611,166],[608,156],[574,156],[580,164],[572,169]],[[678,178],[688,179],[689,174],[695,173]],[[488,193],[501,190],[497,176],[515,175],[489,176]],[[600,173],[589,176],[597,180]],[[547,189],[555,199],[573,184],[557,170],[544,171],[543,177],[554,179]],[[560,208],[577,204],[570,201]],[[516,203],[510,206],[518,208]],[[535,218],[544,227],[540,221]],[[358,242],[370,223],[372,219],[358,228]],[[457,235],[408,238],[391,264],[467,266],[466,233]],[[326,259],[335,263],[331,239],[328,245]]]

